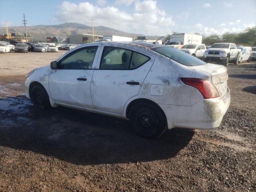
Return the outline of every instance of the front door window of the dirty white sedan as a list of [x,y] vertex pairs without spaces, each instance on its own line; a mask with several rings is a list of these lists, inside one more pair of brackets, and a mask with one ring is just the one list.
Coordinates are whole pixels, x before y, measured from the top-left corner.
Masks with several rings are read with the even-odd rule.
[[98,46],[75,50],[58,62],[59,69],[90,69]]

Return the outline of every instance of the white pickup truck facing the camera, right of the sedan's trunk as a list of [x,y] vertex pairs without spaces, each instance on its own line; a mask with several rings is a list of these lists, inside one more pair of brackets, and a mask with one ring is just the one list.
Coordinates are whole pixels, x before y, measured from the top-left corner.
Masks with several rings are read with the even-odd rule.
[[221,62],[224,66],[228,66],[230,61],[238,64],[239,57],[240,50],[234,43],[215,43],[204,52],[205,62]]

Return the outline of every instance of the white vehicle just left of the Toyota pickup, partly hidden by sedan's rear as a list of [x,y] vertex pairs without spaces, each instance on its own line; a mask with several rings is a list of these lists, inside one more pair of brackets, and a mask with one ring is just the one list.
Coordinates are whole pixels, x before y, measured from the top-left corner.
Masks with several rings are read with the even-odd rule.
[[182,46],[182,48],[180,48],[179,50],[188,53],[194,57],[197,58],[203,58],[204,57],[204,52],[206,50],[206,47],[204,44],[188,44],[188,45],[184,45]]

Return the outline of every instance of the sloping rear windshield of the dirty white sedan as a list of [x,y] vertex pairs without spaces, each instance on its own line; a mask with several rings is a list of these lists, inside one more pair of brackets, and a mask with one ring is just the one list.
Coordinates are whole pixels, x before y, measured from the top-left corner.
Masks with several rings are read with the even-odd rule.
[[180,51],[178,49],[174,49],[172,47],[168,46],[160,46],[160,47],[153,47],[151,48],[154,52],[157,52],[163,56],[166,56],[182,65],[185,66],[198,66],[198,65],[204,65],[206,64],[202,60],[191,56],[190,54],[187,54],[183,51]]

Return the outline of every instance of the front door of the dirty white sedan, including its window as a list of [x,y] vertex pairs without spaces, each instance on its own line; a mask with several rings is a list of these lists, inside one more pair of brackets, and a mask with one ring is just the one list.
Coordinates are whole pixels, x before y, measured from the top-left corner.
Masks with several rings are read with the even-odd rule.
[[90,82],[99,50],[98,46],[86,46],[57,61],[57,69],[49,76],[50,96],[54,102],[93,108]]

